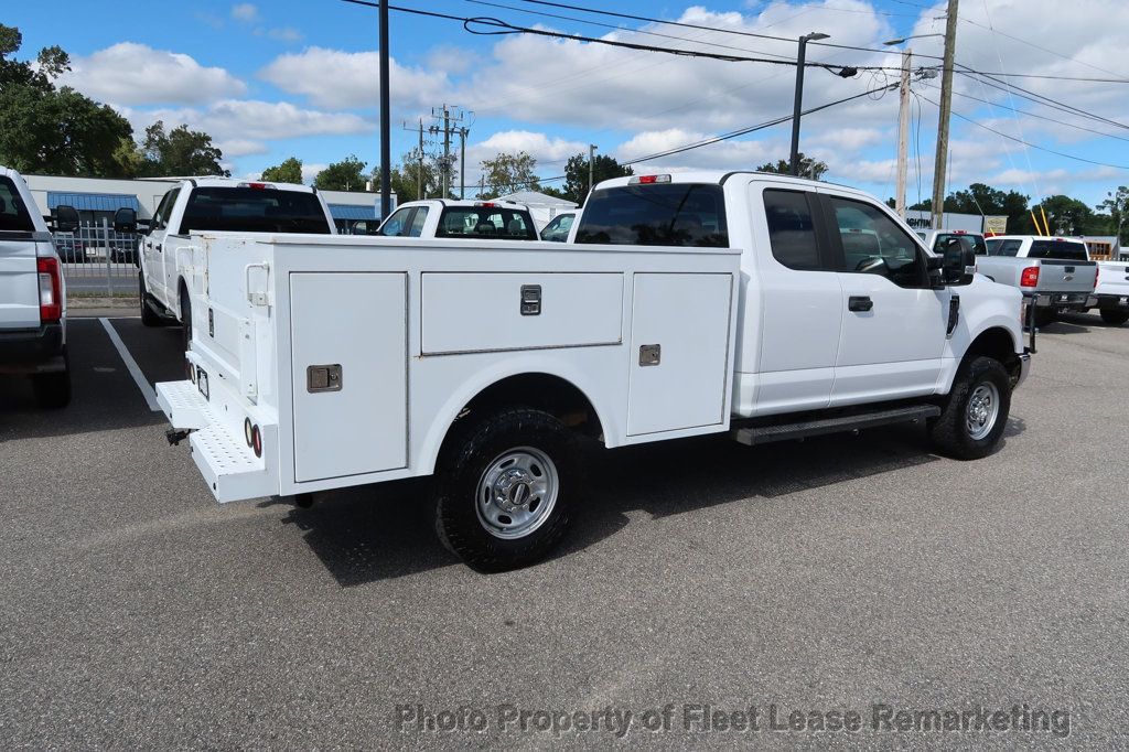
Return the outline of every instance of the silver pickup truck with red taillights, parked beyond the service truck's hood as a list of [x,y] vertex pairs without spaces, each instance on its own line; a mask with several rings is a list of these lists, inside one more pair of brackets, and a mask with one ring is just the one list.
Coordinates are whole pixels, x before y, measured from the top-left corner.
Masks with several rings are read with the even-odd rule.
[[1034,306],[1036,326],[1066,311],[1094,307],[1097,263],[1086,244],[1064,237],[999,235],[984,242],[977,271],[994,282],[1017,287]]

